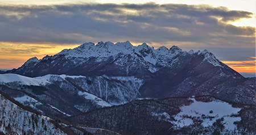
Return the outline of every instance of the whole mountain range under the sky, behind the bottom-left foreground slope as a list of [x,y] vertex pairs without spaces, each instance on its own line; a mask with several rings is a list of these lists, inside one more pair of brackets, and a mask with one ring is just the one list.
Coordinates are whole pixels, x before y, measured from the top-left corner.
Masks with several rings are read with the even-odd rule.
[[[255,123],[255,81],[217,60],[209,50],[186,52],[176,46],[154,49],[146,43],[135,47],[129,41],[99,42],[64,49],[41,60],[33,57],[18,69],[1,71],[0,91],[43,116],[93,130],[110,129],[120,134],[254,134],[256,131],[245,129],[241,121]],[[221,112],[210,115],[199,109],[190,113],[182,108],[203,103],[213,106],[213,102],[236,107],[222,116]],[[251,117],[247,118],[247,113],[252,113]],[[182,125],[177,117],[184,119],[183,115],[186,121]],[[212,122],[205,125],[208,119]],[[233,123],[225,126],[229,128],[219,130],[230,119]],[[191,120],[193,123],[188,122]],[[149,125],[142,124],[147,121]],[[185,132],[179,132],[181,129]]]

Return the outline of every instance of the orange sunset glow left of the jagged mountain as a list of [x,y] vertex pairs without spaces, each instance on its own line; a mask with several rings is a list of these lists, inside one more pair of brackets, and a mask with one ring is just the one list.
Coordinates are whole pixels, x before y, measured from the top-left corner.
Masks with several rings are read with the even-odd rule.
[[79,45],[32,44],[32,43],[0,43],[0,69],[19,68],[32,57],[42,59],[46,55],[54,55],[63,49],[75,48]]

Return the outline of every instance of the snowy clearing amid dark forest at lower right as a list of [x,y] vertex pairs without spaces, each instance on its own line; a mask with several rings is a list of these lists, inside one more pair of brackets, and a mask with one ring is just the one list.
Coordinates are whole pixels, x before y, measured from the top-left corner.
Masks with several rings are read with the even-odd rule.
[[220,124],[224,125],[226,132],[232,132],[237,129],[235,121],[241,121],[241,117],[237,116],[241,108],[235,108],[231,104],[215,99],[211,102],[197,101],[195,98],[189,98],[193,102],[189,105],[180,107],[180,112],[175,116],[170,116],[167,112],[152,113],[152,116],[164,119],[174,124],[175,129],[180,129],[195,124],[196,120],[203,127],[213,126],[216,121],[220,120]]

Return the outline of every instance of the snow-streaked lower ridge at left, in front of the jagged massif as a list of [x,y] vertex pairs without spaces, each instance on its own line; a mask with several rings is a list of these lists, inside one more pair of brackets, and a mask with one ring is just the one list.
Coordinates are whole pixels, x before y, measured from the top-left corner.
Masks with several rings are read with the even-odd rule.
[[10,88],[7,90],[0,87],[0,90],[10,94],[24,106],[40,112],[46,111],[47,115],[50,115],[48,109],[69,116],[80,111],[129,102],[139,98],[138,90],[142,83],[142,79],[135,77],[105,75],[84,77],[49,74],[30,78],[18,74],[0,74],[0,84]]

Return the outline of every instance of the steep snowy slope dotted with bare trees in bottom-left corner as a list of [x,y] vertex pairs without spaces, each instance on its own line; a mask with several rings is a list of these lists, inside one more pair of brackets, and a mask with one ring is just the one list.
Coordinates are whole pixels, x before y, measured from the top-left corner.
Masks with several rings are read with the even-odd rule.
[[49,118],[25,111],[0,94],[0,131],[5,134],[66,134]]

